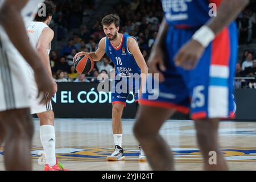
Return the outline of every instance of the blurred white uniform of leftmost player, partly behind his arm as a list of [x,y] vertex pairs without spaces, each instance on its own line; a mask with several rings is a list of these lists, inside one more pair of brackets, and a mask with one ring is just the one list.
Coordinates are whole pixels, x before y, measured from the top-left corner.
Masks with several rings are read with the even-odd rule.
[[[21,15],[25,26],[34,19],[39,3],[44,0],[29,0]],[[0,8],[3,0],[0,0]],[[19,36],[19,32],[17,32]],[[11,43],[0,25],[0,111],[30,107],[26,61]]]

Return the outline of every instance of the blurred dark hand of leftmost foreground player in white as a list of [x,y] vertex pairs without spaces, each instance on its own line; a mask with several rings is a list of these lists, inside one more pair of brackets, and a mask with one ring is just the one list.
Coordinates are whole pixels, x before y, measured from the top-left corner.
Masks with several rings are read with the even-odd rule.
[[36,69],[35,81],[38,86],[38,97],[43,96],[40,104],[46,104],[55,94],[55,86],[52,77],[44,69]]

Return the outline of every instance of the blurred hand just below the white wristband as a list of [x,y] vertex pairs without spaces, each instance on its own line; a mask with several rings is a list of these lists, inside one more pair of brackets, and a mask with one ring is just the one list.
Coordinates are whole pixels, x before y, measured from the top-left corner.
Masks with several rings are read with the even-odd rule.
[[196,40],[191,39],[175,55],[175,64],[184,69],[194,69],[204,53],[204,47]]

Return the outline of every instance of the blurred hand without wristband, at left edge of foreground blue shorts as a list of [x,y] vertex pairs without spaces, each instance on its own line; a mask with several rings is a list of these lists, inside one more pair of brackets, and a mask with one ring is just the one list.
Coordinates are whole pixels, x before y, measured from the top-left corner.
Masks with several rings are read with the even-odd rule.
[[[158,69],[158,65],[160,70]],[[153,75],[159,74],[159,82],[164,81],[164,75],[162,72],[166,71],[166,66],[164,65],[164,52],[162,48],[154,48],[148,59],[148,71]]]

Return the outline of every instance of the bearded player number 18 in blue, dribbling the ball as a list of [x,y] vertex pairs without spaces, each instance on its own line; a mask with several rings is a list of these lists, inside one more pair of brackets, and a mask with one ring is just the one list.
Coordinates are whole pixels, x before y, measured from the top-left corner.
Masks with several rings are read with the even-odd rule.
[[[106,15],[102,19],[102,26],[106,34],[105,38],[100,40],[98,49],[96,52],[80,52],[75,56],[80,56],[82,54],[87,54],[94,61],[100,61],[102,56],[106,53],[113,61],[115,65],[115,80],[114,88],[112,88],[112,129],[114,135],[115,150],[112,155],[108,156],[107,160],[124,160],[123,148],[122,148],[122,112],[125,107],[127,97],[129,92],[133,92],[135,100],[138,101],[139,90],[141,85],[139,85],[139,80],[129,86],[129,77],[135,74],[147,76],[148,68],[146,62],[142,56],[142,53],[138,47],[137,40],[126,34],[119,34],[119,21],[118,15]],[[142,82],[143,82],[142,77]],[[146,77],[145,77],[146,79]],[[116,89],[120,81],[125,82],[126,88],[125,92],[118,92]],[[145,80],[144,80],[145,81]],[[123,90],[123,89],[122,89]],[[141,149],[141,148],[140,148]],[[139,160],[146,160],[144,152],[140,150]]]

